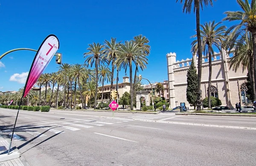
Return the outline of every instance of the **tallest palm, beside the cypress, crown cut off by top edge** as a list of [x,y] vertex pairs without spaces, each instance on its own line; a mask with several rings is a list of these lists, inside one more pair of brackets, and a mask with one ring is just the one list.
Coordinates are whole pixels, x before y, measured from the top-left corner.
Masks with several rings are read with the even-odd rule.
[[[180,1],[183,3],[183,0],[176,0],[176,3]],[[203,10],[203,4],[212,6],[213,0],[184,0],[183,12],[190,13],[193,7],[193,11],[196,17],[196,34],[198,43],[201,43],[201,34],[200,34],[200,6]],[[214,0],[216,1],[216,0]],[[201,110],[202,100],[201,100],[201,76],[202,76],[202,45],[198,45],[198,96],[197,96],[197,110]]]

